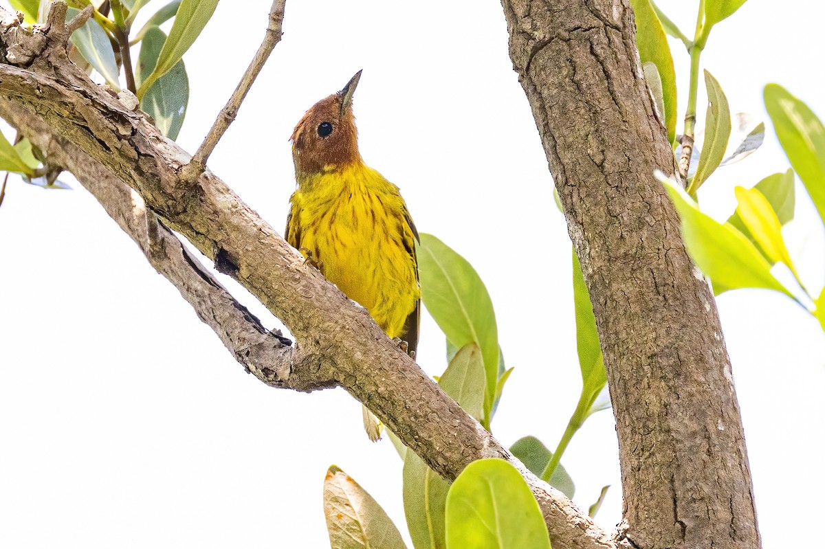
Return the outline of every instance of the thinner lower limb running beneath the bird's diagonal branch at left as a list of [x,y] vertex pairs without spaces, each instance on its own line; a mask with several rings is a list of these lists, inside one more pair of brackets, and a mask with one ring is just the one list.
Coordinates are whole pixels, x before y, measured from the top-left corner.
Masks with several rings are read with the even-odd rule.
[[[310,375],[304,355],[280,331],[267,331],[217,279],[186,250],[181,241],[146,209],[144,199],[99,163],[66,139],[52,134],[41,120],[25,110],[7,110],[4,119],[20,128],[31,143],[46,153],[50,163],[71,171],[101,204],[106,213],[143,252],[149,265],[171,282],[181,297],[195,308],[233,357],[262,382],[272,387],[311,391],[332,383]],[[296,364],[299,364],[296,366]]]

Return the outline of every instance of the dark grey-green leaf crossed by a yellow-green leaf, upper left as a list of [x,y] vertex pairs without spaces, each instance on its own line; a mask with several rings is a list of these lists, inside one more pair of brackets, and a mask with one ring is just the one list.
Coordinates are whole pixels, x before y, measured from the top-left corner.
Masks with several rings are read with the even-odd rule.
[[[138,57],[135,79],[140,83],[151,74],[158,54],[167,40],[166,34],[157,26],[146,32]],[[140,100],[140,108],[151,115],[161,133],[173,141],[181,131],[189,103],[189,77],[183,60],[178,61],[171,71],[158,78]]]

